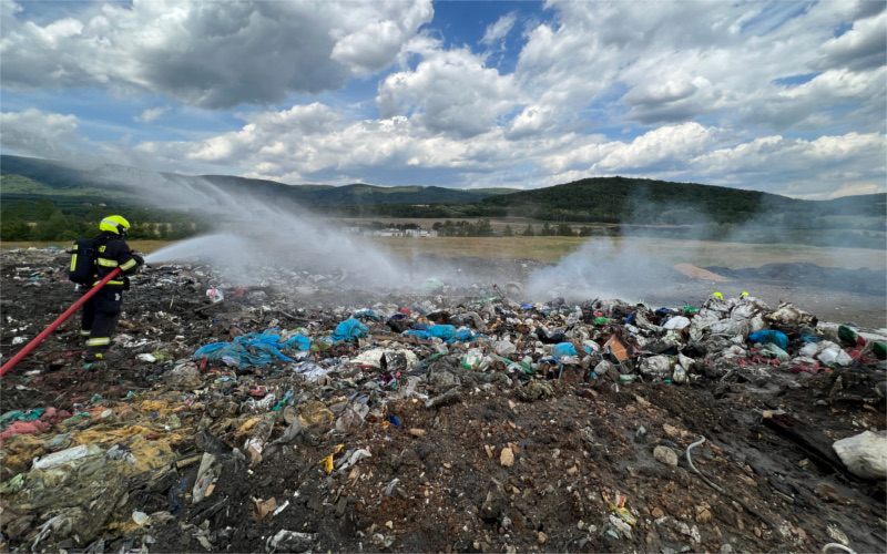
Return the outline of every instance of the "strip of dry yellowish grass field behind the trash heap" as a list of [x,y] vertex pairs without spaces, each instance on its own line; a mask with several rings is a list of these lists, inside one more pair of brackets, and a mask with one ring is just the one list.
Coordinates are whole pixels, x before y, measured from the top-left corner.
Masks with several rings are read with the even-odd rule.
[[[592,242],[604,252],[643,256],[669,265],[693,264],[699,267],[723,266],[733,269],[759,267],[778,261],[810,261],[825,267],[884,269],[887,252],[866,248],[823,248],[794,244],[741,244],[667,238],[580,238],[580,237],[438,237],[438,238],[365,238],[380,250],[400,257],[416,254],[441,256],[478,256],[489,258],[531,258],[558,261]],[[167,240],[132,240],[135,250],[151,254],[172,244]],[[8,242],[0,248],[67,248],[67,243]]]

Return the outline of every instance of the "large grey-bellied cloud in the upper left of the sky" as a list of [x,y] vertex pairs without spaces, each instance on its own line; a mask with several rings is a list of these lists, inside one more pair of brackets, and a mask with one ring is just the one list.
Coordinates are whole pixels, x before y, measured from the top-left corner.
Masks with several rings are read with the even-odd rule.
[[161,93],[207,109],[340,89],[392,63],[434,14],[430,0],[151,0],[84,3],[40,25],[7,16],[21,10],[3,2],[4,88]]

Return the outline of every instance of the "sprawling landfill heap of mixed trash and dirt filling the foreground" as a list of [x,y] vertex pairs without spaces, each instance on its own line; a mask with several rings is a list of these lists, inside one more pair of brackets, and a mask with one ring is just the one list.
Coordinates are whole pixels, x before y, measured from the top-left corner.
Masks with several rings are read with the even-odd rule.
[[[72,299],[63,261],[4,255],[3,359]],[[80,361],[74,321],[8,373],[0,543],[887,546],[878,332],[746,294],[534,302],[520,283],[436,280],[340,305],[335,276],[276,275],[150,267],[114,339],[123,361]]]

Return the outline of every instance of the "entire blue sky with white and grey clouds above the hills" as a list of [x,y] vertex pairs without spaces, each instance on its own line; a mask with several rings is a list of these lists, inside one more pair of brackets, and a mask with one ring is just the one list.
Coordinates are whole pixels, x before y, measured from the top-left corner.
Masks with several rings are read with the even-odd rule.
[[287,184],[887,191],[885,1],[0,0],[0,152]]

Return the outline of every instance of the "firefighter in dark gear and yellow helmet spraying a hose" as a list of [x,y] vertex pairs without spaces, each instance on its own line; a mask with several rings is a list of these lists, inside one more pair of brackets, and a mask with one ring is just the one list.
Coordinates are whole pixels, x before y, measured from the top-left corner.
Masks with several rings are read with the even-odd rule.
[[129,276],[134,275],[145,263],[126,244],[129,228],[130,222],[119,215],[111,215],[102,219],[99,225],[102,233],[93,239],[92,285],[102,280],[115,267],[120,268],[120,274],[83,305],[80,334],[88,337],[89,361],[119,358],[110,348],[123,305],[123,291],[130,288]]

